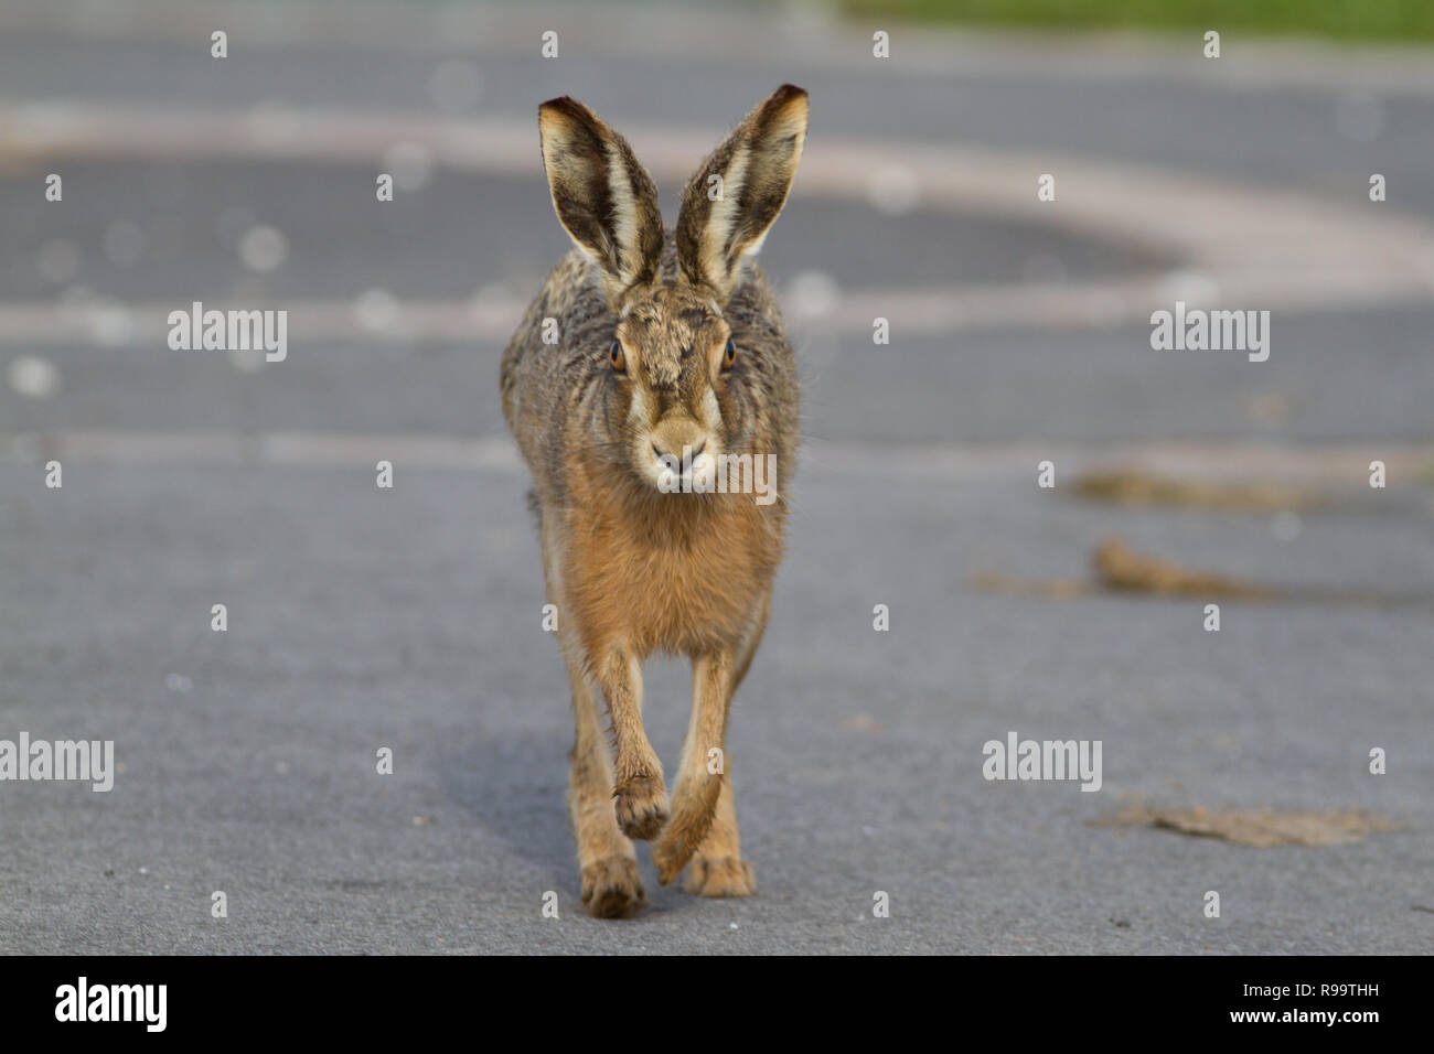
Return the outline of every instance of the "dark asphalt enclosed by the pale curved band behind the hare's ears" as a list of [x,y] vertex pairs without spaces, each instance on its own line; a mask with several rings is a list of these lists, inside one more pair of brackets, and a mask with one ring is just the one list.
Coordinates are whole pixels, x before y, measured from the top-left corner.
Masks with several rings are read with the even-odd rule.
[[[92,252],[80,262],[89,288],[116,297],[145,297],[156,290],[227,295],[235,283],[251,277],[234,251],[247,219],[285,231],[295,242],[282,271],[268,280],[285,297],[354,295],[356,288],[370,287],[397,295],[469,297],[493,283],[526,291],[541,285],[552,261],[571,247],[561,227],[546,229],[555,225],[533,222],[551,208],[536,153],[533,174],[538,178],[500,179],[440,172],[422,195],[399,195],[391,208],[379,208],[371,174],[354,166],[66,165],[66,194],[76,208],[62,215],[29,208],[32,188],[22,181],[0,186],[13,237],[4,261],[7,298],[53,295],[53,283],[36,268],[46,242],[96,247],[116,219],[156,215],[163,218],[161,229],[174,237],[132,264]],[[681,189],[665,188],[668,222]],[[1044,225],[994,222],[981,215],[889,217],[869,204],[852,208],[815,198],[793,202],[783,219],[790,237],[786,242],[773,239],[770,251],[763,251],[763,265],[773,275],[820,268],[843,288],[875,281],[893,287],[1020,283],[1027,280],[1030,261],[1043,257],[1086,277],[1172,262]],[[863,251],[855,252],[853,244]],[[951,250],[959,245],[981,250],[954,258]],[[503,343],[506,337],[502,334]]]

